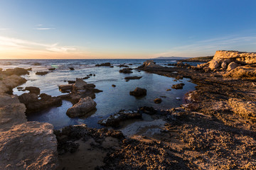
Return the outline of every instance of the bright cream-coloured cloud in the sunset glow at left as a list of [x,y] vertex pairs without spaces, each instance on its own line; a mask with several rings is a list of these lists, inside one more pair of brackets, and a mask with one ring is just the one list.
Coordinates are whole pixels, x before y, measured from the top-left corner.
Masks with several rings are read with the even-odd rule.
[[68,53],[76,51],[75,47],[60,46],[58,43],[46,44],[33,42],[28,40],[21,40],[17,38],[9,38],[0,36],[0,50],[35,50],[42,52],[62,52]]

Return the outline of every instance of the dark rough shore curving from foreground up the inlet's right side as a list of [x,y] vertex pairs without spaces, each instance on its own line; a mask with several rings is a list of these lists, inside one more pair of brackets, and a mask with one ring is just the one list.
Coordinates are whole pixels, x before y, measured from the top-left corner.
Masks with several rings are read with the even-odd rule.
[[[147,113],[153,120],[163,120],[164,125],[141,128],[129,137],[118,130],[97,130],[86,125],[68,126],[62,132],[55,130],[58,152],[63,152],[58,156],[63,166],[58,169],[256,168],[254,117],[240,114],[240,100],[256,101],[253,80],[226,78],[222,72],[203,72],[179,64],[141,69],[176,79],[189,78],[197,84],[196,90],[187,94],[187,104],[181,107]],[[156,132],[146,133],[150,129]],[[95,156],[90,157],[93,153]],[[90,167],[85,162],[88,157]],[[79,162],[80,158],[84,162]]]

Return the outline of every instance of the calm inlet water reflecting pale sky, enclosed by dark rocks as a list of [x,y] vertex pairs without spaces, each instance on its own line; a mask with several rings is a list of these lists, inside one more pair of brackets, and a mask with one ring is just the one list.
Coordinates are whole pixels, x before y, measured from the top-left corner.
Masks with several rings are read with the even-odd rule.
[[[129,61],[128,63],[131,63]],[[74,64],[75,65],[75,64]],[[137,67],[135,64],[132,67]],[[51,96],[59,96],[62,93],[58,90],[58,85],[68,84],[64,80],[75,80],[75,78],[86,77],[87,74],[96,74],[95,77],[86,79],[87,83],[96,85],[97,89],[102,93],[96,94],[95,102],[97,103],[97,111],[92,113],[88,118],[68,118],[66,111],[72,106],[69,101],[63,101],[60,107],[49,108],[41,113],[35,113],[28,116],[28,120],[36,120],[39,122],[47,122],[54,125],[55,129],[63,128],[66,125],[78,125],[86,123],[89,127],[100,128],[97,121],[107,116],[117,113],[120,109],[137,109],[142,106],[152,106],[156,109],[169,109],[178,107],[183,101],[177,101],[176,97],[181,97],[188,92],[194,90],[195,85],[189,82],[189,79],[174,81],[173,78],[163,77],[157,74],[149,74],[146,72],[137,72],[133,70],[132,74],[119,73],[119,67],[76,67],[74,71],[69,69],[56,69],[45,76],[36,75],[36,69],[31,74],[25,76],[28,81],[22,86],[37,86],[41,89],[41,93],[50,94]],[[122,69],[122,68],[121,68]],[[142,79],[125,81],[124,77],[140,76]],[[173,84],[186,84],[182,90],[171,89]],[[112,87],[115,84],[116,87]],[[129,91],[136,87],[147,90],[147,95],[142,98],[135,98],[129,95]],[[171,89],[171,91],[166,91]],[[14,89],[14,94],[21,95],[23,91]],[[154,98],[162,98],[159,104],[154,103]]]

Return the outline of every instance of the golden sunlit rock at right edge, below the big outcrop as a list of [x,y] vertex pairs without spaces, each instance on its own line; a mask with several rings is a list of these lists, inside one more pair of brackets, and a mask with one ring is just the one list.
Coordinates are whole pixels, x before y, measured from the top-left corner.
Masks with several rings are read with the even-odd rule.
[[239,98],[230,98],[228,105],[232,108],[233,112],[242,115],[246,118],[255,119],[256,116],[256,102],[243,101]]

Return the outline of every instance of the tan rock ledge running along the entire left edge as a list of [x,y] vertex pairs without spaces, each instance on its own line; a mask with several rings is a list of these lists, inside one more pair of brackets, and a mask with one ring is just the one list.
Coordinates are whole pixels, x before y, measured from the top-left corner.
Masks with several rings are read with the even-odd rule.
[[15,72],[6,73],[0,73],[0,169],[55,169],[58,159],[53,125],[26,120],[25,105],[18,96],[10,95],[26,79]]

